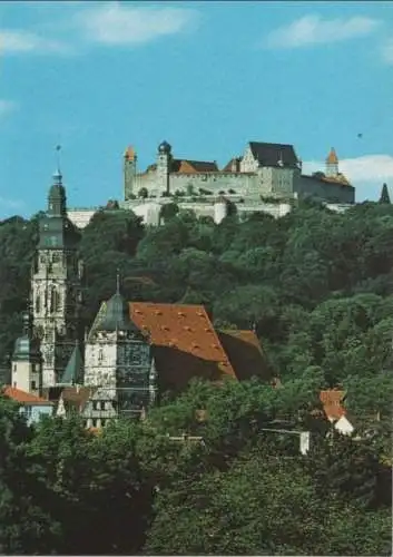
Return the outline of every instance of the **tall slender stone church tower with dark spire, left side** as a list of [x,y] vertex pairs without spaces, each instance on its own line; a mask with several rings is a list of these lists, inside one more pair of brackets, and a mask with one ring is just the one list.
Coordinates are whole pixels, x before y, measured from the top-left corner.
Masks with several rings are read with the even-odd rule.
[[66,189],[57,170],[48,211],[39,223],[31,277],[33,333],[40,339],[43,387],[60,379],[79,336],[82,266],[77,260],[78,240],[67,218]]

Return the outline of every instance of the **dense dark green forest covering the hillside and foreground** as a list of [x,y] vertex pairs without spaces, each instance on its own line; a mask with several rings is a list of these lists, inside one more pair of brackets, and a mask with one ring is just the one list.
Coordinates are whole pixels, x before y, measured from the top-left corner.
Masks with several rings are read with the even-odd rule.
[[[3,362],[38,217],[0,224]],[[173,207],[157,228],[101,211],[80,236],[85,326],[119,267],[128,300],[203,303],[217,328],[255,326],[283,387],[195,381],[146,421],[99,436],[77,418],[28,430],[1,399],[0,553],[391,555],[393,206],[343,215],[304,202],[219,225]],[[332,387],[377,434],[326,438],[312,410]],[[312,431],[306,457],[262,431],[283,416]],[[203,442],[167,437],[183,432]]]

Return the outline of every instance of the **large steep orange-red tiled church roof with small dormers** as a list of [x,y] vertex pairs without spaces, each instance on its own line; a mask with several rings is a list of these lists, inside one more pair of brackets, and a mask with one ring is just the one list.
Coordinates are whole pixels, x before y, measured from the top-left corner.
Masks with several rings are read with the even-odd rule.
[[191,377],[236,378],[203,305],[129,304],[135,324],[149,332],[159,375],[170,388],[186,387]]

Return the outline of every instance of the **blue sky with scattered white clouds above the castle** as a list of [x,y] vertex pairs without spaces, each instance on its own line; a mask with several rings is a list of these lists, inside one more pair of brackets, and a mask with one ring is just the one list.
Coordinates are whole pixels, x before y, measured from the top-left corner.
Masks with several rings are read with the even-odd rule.
[[[362,137],[358,137],[362,134]],[[393,192],[392,2],[0,2],[0,218],[120,198],[122,153],[225,165],[248,140],[331,146],[357,201]]]

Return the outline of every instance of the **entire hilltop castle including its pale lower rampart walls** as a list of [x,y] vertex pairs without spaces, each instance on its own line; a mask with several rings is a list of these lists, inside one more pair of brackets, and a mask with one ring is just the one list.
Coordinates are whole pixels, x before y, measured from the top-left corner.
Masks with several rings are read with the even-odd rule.
[[[163,206],[173,201],[180,211],[193,211],[216,224],[227,215],[228,202],[240,219],[256,212],[284,216],[293,199],[304,197],[338,212],[355,203],[355,188],[340,173],[334,148],[326,157],[325,170],[312,176],[302,173],[302,162],[292,145],[257,141],[249,141],[243,156],[232,158],[223,169],[215,160],[175,158],[167,141],[158,146],[156,162],[145,172],[138,172],[134,147],[126,149],[122,163],[124,199],[119,206],[153,226],[160,224]],[[68,216],[83,228],[99,208],[73,208]]]

